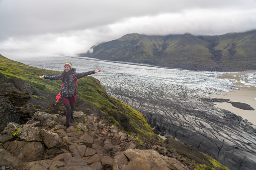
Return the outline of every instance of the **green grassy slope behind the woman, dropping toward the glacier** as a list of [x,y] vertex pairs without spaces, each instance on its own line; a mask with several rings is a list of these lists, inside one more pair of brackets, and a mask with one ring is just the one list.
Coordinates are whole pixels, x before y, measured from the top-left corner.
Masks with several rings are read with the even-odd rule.
[[[0,72],[8,78],[21,78],[28,81],[36,90],[59,93],[61,82],[58,80],[47,80],[39,78],[45,75],[57,75],[62,71],[50,71],[32,66],[27,66],[20,62],[12,61],[0,55]],[[79,96],[96,105],[100,110],[108,113],[112,124],[117,125],[128,133],[135,133],[141,137],[157,137],[148,125],[145,116],[129,107],[122,101],[108,96],[100,81],[94,77],[87,76],[79,79]],[[125,125],[123,125],[125,124]]]

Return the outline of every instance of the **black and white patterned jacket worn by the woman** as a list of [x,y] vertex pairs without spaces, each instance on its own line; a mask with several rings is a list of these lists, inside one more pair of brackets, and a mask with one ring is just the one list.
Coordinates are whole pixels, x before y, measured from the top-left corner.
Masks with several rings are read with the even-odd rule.
[[[67,81],[65,79],[63,83],[63,86],[60,90],[60,94],[62,97],[72,97],[75,96],[75,94],[77,93],[75,90],[75,80],[74,77],[76,77],[77,79],[94,74],[94,70],[93,71],[88,71],[88,72],[83,72],[83,73],[75,73],[75,68],[72,68],[72,73],[70,73],[69,75],[69,81]],[[74,74],[74,76],[73,76]],[[55,75],[55,76],[44,76],[45,79],[50,79],[50,80],[59,80],[61,77],[61,74],[59,75]]]

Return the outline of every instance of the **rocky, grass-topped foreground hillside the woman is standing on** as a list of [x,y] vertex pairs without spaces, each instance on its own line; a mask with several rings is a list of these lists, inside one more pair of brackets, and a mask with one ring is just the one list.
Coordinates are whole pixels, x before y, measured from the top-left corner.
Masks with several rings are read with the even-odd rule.
[[[59,81],[38,78],[60,72],[27,66],[2,55],[0,64],[1,123],[7,122],[5,117],[10,115],[18,113],[22,118],[29,113],[24,124],[17,124],[19,118],[13,116],[15,122],[1,130],[2,168],[129,169],[137,163],[136,167],[142,169],[143,165],[156,169],[228,169],[172,138],[159,140],[144,115],[108,96],[100,82],[90,76],[78,82],[76,122],[65,129],[62,102],[54,106]],[[126,163],[120,164],[123,160]]]

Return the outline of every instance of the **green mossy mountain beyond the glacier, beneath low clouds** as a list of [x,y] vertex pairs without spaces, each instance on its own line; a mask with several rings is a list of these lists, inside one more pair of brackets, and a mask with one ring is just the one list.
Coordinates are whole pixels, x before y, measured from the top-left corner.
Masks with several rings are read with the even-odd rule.
[[92,49],[92,53],[88,51],[80,56],[188,70],[243,71],[256,68],[256,30],[220,36],[134,33]]

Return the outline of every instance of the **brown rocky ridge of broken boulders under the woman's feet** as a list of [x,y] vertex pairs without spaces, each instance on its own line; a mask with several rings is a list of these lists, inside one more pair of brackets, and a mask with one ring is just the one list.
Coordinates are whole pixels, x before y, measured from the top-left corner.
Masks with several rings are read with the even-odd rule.
[[3,144],[0,166],[2,169],[196,169],[196,163],[178,156],[175,149],[159,143],[143,146],[141,139],[93,115],[74,112],[74,119],[76,123],[66,129],[64,116],[38,111],[24,125],[10,122],[0,135]]

